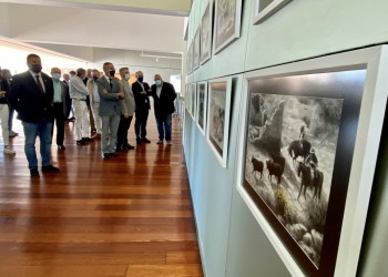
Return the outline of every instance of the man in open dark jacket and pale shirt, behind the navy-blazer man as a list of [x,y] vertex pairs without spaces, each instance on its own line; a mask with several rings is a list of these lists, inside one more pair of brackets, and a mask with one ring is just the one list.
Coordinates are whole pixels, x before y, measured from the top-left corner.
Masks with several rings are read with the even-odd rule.
[[[54,86],[54,101],[53,101],[53,113],[54,122],[57,126],[57,145],[58,150],[65,150],[63,145],[64,141],[64,116],[67,113],[65,106],[65,89],[61,81],[61,70],[59,68],[51,69],[52,84]],[[54,126],[52,126],[52,133]]]

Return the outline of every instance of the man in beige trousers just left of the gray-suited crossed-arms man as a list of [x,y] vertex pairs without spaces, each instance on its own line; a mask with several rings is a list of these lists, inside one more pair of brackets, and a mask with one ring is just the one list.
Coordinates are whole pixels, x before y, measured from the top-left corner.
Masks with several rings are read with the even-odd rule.
[[100,78],[100,72],[96,69],[94,69],[92,71],[92,78],[88,80],[88,84],[86,84],[89,90],[90,107],[92,111],[92,116],[94,119],[94,125],[95,125],[95,132],[96,132],[93,138],[101,137],[101,116],[99,115],[100,94],[99,94],[99,88],[96,84],[96,80],[99,78]]

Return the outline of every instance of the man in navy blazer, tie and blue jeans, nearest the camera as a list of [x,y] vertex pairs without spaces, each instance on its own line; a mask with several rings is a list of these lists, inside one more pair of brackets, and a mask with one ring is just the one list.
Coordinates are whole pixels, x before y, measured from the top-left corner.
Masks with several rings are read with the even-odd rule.
[[59,172],[51,165],[51,130],[53,122],[53,83],[42,73],[42,63],[37,54],[27,57],[29,70],[13,76],[9,102],[18,111],[24,131],[24,153],[31,177],[39,177],[35,152],[37,136],[40,138],[42,172]]

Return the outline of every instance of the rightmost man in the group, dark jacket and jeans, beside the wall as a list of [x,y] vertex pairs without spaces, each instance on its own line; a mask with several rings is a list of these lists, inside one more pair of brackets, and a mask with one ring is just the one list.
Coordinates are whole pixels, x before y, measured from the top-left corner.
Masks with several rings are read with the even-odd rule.
[[172,114],[175,112],[174,100],[175,89],[171,83],[163,82],[162,76],[156,74],[155,84],[151,86],[150,95],[154,99],[154,111],[157,124],[159,142],[162,144],[165,138],[171,144]]

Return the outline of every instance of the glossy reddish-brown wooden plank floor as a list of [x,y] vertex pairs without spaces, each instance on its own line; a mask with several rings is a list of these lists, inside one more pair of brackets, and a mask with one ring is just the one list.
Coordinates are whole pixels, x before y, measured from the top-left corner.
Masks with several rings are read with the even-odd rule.
[[0,276],[203,276],[176,119],[171,146],[155,144],[150,114],[152,144],[108,161],[100,141],[76,146],[69,123],[67,150],[52,147],[61,173],[39,179],[14,124],[14,157],[0,138]]

